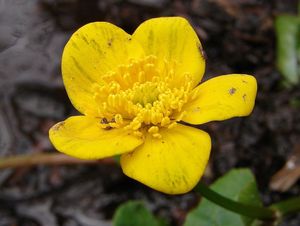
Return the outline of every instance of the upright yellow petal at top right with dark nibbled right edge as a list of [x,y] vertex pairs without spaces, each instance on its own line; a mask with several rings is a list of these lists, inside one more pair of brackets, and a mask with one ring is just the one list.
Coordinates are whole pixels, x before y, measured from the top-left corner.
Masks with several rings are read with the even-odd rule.
[[200,82],[205,70],[202,46],[186,19],[161,17],[147,20],[135,30],[132,37],[140,42],[146,55],[158,57],[161,68],[165,60],[175,60],[177,65],[174,72],[179,82],[186,72],[190,73],[193,86]]

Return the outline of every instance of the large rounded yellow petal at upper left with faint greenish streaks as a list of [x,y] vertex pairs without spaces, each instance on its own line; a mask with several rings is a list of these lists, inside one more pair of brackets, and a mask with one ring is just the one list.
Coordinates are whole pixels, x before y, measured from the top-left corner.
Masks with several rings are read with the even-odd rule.
[[129,59],[143,55],[141,46],[121,28],[94,22],[77,30],[66,44],[62,56],[64,84],[74,107],[85,115],[97,115],[93,83]]

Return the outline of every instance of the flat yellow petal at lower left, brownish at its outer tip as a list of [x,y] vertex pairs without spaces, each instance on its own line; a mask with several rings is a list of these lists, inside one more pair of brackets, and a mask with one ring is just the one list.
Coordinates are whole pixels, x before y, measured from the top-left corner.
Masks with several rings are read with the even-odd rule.
[[57,150],[81,159],[100,159],[132,151],[143,143],[142,138],[124,129],[105,130],[100,120],[74,116],[54,125],[49,137]]

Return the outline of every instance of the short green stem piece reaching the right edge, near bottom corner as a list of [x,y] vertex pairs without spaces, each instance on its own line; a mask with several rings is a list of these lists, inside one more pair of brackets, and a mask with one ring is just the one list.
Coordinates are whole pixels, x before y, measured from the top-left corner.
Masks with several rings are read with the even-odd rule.
[[300,197],[290,198],[270,206],[276,210],[280,217],[300,211]]

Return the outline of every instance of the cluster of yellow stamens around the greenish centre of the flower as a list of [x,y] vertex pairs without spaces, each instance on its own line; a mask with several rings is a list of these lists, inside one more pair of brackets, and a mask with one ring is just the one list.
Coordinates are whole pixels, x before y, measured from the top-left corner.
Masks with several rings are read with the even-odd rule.
[[188,73],[176,76],[175,65],[148,56],[103,76],[101,84],[93,85],[103,128],[124,127],[138,136],[147,130],[159,138],[160,128],[176,125],[184,114],[191,78]]

